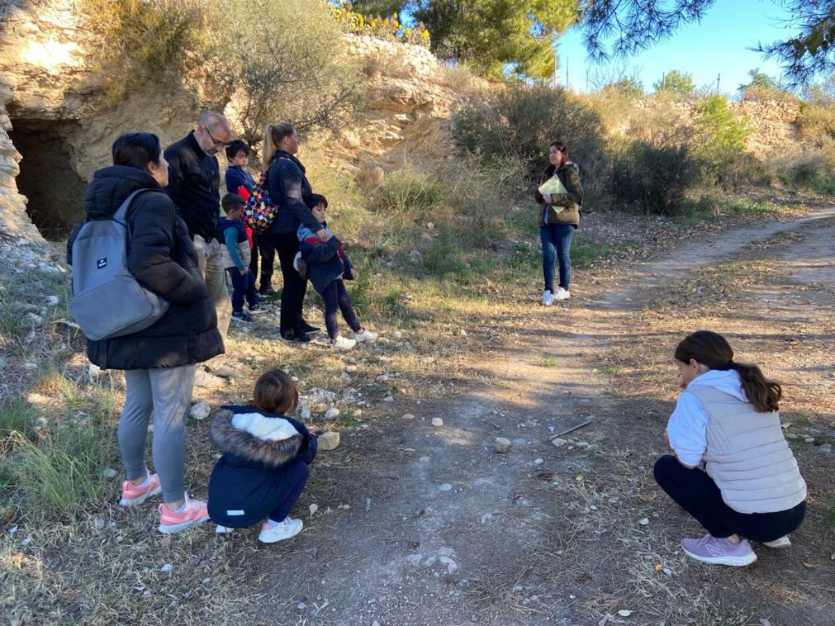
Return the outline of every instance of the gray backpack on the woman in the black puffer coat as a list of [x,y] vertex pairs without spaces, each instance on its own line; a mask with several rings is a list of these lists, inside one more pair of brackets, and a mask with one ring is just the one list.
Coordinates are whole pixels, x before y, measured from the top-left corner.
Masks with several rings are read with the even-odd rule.
[[93,341],[139,332],[168,310],[168,302],[145,289],[128,270],[130,229],[125,216],[139,189],[114,216],[89,220],[73,242],[73,297],[69,312]]

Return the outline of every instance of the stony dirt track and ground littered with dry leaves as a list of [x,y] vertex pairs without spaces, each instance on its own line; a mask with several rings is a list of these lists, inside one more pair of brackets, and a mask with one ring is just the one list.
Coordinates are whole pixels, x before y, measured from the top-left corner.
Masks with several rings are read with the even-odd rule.
[[[614,240],[608,231],[626,223],[590,224]],[[675,232],[642,231],[637,251],[578,271],[562,305],[537,305],[536,275],[485,284],[452,311],[414,298],[408,307],[441,321],[379,329],[382,341],[347,354],[273,341],[271,314],[233,327],[240,375],[195,401],[214,410],[248,397],[278,364],[299,379],[311,427],[340,434],[297,505],[301,535],[272,546],[255,529],[159,538],[153,506],[106,503],[110,477],[71,517],[7,516],[0,613],[11,623],[835,623],[835,212]],[[60,316],[60,305],[51,317],[41,307],[30,311],[41,322]],[[57,326],[66,371],[114,389],[112,424],[118,378],[90,382],[70,349],[78,338]],[[785,383],[782,418],[809,485],[794,546],[756,546],[749,568],[688,561],[678,543],[701,528],[652,478],[677,392],[671,353],[698,328],[726,334],[740,360]],[[4,384],[31,376],[40,397],[30,401],[48,402],[27,373],[38,350],[25,352]],[[197,496],[214,459],[208,421],[192,420]]]

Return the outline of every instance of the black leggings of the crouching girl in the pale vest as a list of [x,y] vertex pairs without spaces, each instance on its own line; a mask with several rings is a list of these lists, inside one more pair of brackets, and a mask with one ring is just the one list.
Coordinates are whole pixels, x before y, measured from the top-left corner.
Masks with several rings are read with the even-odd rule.
[[716,482],[701,469],[687,469],[670,454],[655,462],[655,481],[681,508],[717,538],[736,533],[751,541],[774,541],[797,530],[806,502],[786,511],[741,513],[729,507]]

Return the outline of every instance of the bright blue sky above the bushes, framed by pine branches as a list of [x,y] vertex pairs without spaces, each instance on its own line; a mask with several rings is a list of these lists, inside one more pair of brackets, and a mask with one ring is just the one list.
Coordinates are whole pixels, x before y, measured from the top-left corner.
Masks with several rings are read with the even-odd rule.
[[570,86],[575,91],[585,91],[588,69],[593,90],[595,72],[606,76],[625,67],[627,75],[636,70],[634,73],[649,91],[662,73],[679,69],[690,72],[697,87],[708,83],[715,87],[716,76],[721,73],[720,91],[735,93],[741,83],[748,82],[752,68],[760,68],[775,78],[781,76],[775,61],[765,60],[762,54],[746,48],[756,46],[757,41],[771,43],[793,34],[784,23],[788,17],[784,8],[770,0],[717,0],[701,23],[688,24],[667,41],[609,67],[589,60],[581,33],[572,29],[559,39],[558,82],[565,84],[568,65]]

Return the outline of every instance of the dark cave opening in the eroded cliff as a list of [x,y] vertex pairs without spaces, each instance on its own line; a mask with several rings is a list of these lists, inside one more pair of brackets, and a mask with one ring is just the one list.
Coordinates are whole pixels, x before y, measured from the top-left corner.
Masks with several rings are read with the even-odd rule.
[[16,180],[28,199],[26,212],[47,240],[65,238],[84,215],[87,181],[73,169],[68,137],[77,122],[12,119],[9,133],[23,159]]

